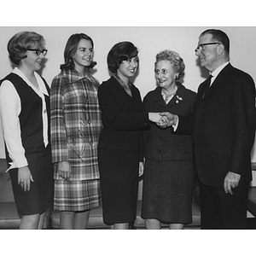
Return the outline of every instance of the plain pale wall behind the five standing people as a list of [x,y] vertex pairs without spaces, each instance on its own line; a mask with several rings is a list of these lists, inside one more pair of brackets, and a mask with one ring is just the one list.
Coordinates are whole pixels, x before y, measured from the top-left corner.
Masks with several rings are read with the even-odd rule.
[[[42,75],[51,84],[56,74],[60,73],[63,63],[63,51],[71,34],[84,32],[95,44],[97,61],[94,76],[100,82],[109,78],[107,55],[113,44],[120,41],[131,41],[139,49],[140,67],[134,84],[141,91],[142,97],[149,90],[154,90],[155,55],[162,49],[177,51],[186,65],[183,84],[190,90],[197,91],[198,85],[207,77],[207,72],[197,65],[195,47],[198,37],[206,26],[2,26],[0,27],[0,79],[13,69],[9,61],[7,44],[16,32],[34,31],[42,34],[46,40],[46,55]],[[255,26],[216,26],[226,32],[230,38],[230,62],[251,74],[256,81],[256,41]],[[256,154],[253,149],[253,160]],[[3,136],[0,130],[0,158],[4,157]]]

